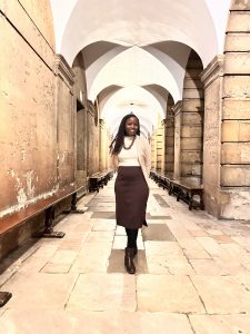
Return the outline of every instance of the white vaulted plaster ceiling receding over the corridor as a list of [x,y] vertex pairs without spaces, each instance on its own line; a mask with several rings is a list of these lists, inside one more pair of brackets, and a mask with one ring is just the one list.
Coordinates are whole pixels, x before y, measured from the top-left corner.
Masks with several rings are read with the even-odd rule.
[[[200,56],[203,67],[223,52],[230,2],[51,0],[57,52],[71,66],[82,51],[88,98],[93,101],[98,96],[101,108],[109,99],[113,101],[118,88],[147,86],[162,109],[167,98],[152,87],[169,91],[174,102],[180,100],[191,49]],[[131,89],[123,90],[123,102],[131,101],[124,95]],[[139,100],[142,97],[143,94]],[[150,108],[152,105],[144,110]]]

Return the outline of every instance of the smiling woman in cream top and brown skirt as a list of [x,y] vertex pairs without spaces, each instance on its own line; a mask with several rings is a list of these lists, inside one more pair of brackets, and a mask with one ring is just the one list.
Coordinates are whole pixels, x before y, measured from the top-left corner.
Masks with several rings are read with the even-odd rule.
[[146,223],[149,197],[150,146],[140,137],[139,119],[130,114],[122,118],[118,134],[110,145],[113,168],[118,171],[114,184],[117,224],[126,228],[128,243],[124,266],[136,273],[138,229]]

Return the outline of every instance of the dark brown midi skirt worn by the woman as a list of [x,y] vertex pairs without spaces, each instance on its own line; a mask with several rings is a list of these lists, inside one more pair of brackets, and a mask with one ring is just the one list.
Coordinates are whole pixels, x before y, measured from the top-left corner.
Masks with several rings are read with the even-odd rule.
[[146,223],[149,187],[141,167],[118,168],[114,183],[117,225],[127,228],[141,228]]

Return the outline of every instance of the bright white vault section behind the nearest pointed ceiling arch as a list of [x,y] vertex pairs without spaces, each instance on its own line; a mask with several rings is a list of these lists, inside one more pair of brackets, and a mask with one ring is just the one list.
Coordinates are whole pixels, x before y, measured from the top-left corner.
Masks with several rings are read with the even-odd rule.
[[[170,63],[173,62],[171,58],[168,60]],[[168,89],[173,99],[178,101],[181,98],[182,89],[179,90],[174,73],[170,71],[171,69],[171,66],[166,67],[147,50],[132,47],[113,57],[102,67],[92,85],[88,86],[88,95],[91,100],[94,100],[107,86],[130,87],[156,84]],[[181,73],[183,73],[183,69]]]

